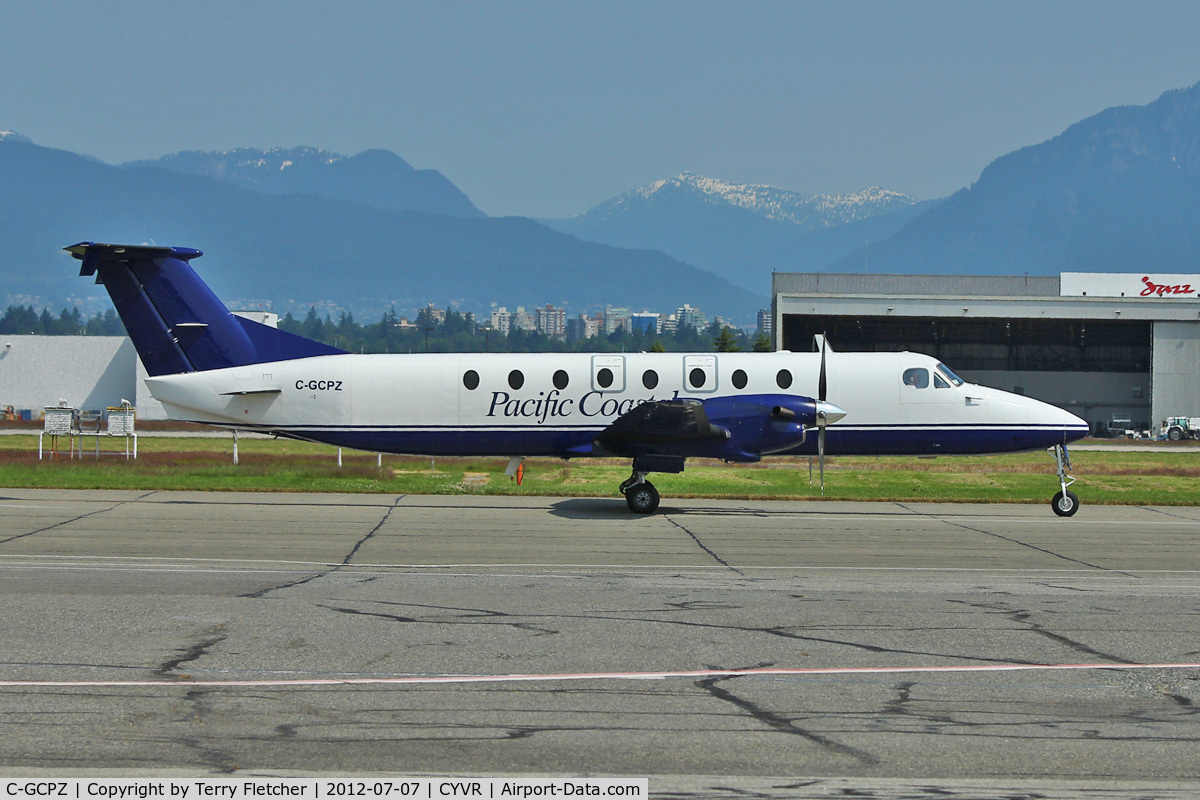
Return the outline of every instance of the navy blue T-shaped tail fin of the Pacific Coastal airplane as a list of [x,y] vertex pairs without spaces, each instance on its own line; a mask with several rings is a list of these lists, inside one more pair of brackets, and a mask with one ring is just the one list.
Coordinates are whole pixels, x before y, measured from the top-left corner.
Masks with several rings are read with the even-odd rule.
[[229,313],[188,261],[187,247],[101,245],[66,247],[108,290],[150,375],[344,353]]

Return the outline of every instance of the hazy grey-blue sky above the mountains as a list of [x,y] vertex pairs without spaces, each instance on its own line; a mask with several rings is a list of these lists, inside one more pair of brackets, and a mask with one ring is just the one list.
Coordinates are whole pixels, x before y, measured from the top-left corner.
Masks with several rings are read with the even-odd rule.
[[1200,2],[0,5],[0,130],[121,162],[386,148],[493,215],[692,170],[920,198],[1200,82]]

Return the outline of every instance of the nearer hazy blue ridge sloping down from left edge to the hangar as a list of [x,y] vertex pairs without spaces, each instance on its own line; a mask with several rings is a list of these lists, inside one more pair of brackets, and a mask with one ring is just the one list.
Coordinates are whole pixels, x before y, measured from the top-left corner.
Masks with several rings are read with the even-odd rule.
[[[36,296],[52,307],[88,307],[86,299],[102,291],[72,279],[60,251],[90,240],[198,247],[206,257],[196,265],[223,300],[300,313],[330,303],[360,318],[426,302],[476,312],[551,302],[570,313],[606,305],[670,312],[691,303],[746,320],[767,303],[767,287],[746,291],[658,251],[581,241],[522,217],[478,216],[461,204],[464,216],[440,213],[454,196],[436,186],[440,181],[431,182],[427,206],[410,201],[418,207],[397,210],[380,207],[397,194],[371,194],[386,181],[370,170],[356,173],[361,192],[346,170],[340,182],[306,178],[320,193],[278,193],[277,179],[266,178],[272,170],[257,180],[248,169],[196,174],[217,161],[211,157],[168,160],[188,164],[184,172],[114,167],[22,139],[0,139],[0,297],[7,294],[8,302]],[[407,172],[398,158],[383,161],[394,174]],[[256,182],[270,190],[251,188]],[[347,200],[347,192],[380,205]]]

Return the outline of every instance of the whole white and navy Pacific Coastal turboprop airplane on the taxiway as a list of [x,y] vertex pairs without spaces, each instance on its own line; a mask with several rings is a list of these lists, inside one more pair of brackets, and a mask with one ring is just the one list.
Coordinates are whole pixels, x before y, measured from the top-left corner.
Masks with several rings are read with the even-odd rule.
[[[229,313],[185,247],[66,248],[113,299],[173,419],[427,456],[624,457],[636,513],[650,473],[688,458],[961,456],[1049,449],[1060,516],[1079,509],[1067,445],[1087,423],[968,384],[916,353],[358,355]],[[815,434],[815,435],[814,435]]]

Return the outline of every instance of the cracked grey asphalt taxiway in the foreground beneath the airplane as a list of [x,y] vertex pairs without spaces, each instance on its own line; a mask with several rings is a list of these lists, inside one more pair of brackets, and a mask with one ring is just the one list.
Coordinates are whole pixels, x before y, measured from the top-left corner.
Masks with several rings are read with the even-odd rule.
[[0,774],[1192,796],[1198,578],[1193,507],[0,489]]

